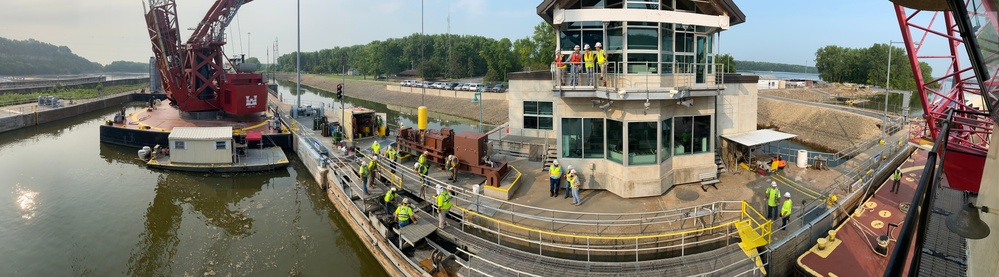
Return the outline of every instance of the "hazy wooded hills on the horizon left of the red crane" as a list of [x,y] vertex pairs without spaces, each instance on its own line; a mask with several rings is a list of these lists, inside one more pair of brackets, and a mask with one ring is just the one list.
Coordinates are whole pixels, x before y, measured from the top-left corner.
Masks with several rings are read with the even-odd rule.
[[0,75],[66,75],[99,72],[149,72],[148,63],[115,61],[107,66],[73,53],[69,47],[34,39],[0,37]]

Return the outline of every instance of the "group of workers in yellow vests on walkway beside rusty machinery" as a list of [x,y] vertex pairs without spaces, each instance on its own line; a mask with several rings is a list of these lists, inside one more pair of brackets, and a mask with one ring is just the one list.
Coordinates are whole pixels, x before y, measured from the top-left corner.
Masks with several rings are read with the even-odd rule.
[[[390,161],[389,162],[390,171],[393,174],[395,174],[396,172],[395,164],[399,162],[398,160],[399,153],[391,146],[389,146],[387,149],[385,149],[384,152],[382,152],[381,144],[375,141],[371,145],[371,150],[373,153],[375,153],[375,155],[372,156],[371,160],[368,161],[368,163],[366,164],[362,163],[360,168],[358,169],[358,174],[361,175],[361,179],[363,180],[365,194],[368,194],[369,187],[374,188],[374,180],[377,180],[377,172],[378,172],[377,168],[379,165],[378,159],[380,156],[384,155]],[[423,186],[426,186],[427,184],[427,174],[429,173],[428,171],[430,169],[430,165],[428,164],[427,160],[429,155],[430,155],[429,151],[424,151],[423,154],[420,155],[419,158],[417,158],[416,164],[413,165],[413,170],[420,175]],[[445,160],[444,168],[451,175],[450,178],[448,178],[448,180],[452,180],[452,182],[457,181],[459,164],[460,163],[458,161],[458,158],[455,157],[454,155],[449,155],[447,157],[447,159]],[[399,189],[396,187],[392,187],[385,193],[385,197],[382,198],[382,200],[384,200],[385,213],[395,215],[399,228],[405,227],[410,224],[415,224],[416,217],[413,215],[413,208],[410,206],[411,202],[409,198],[402,199],[401,205],[396,207],[394,212],[392,212],[393,211],[392,207],[395,206],[395,201],[396,198],[398,198],[398,195],[399,195]],[[444,228],[446,226],[445,219],[447,217],[448,212],[451,209],[451,206],[453,205],[451,201],[452,195],[453,195],[453,189],[451,187],[444,188],[441,185],[437,185],[436,195],[434,196],[434,198],[436,200],[435,207],[438,210],[438,224],[437,224],[438,228]]]

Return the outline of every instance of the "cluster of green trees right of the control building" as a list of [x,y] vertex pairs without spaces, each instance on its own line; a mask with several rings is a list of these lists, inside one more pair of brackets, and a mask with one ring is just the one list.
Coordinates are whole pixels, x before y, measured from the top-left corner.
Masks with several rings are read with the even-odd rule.
[[[827,82],[857,83],[882,86],[887,81],[888,49],[891,47],[891,88],[915,90],[916,81],[912,75],[905,49],[875,43],[868,48],[846,48],[828,45],[815,52],[815,67],[819,77]],[[925,62],[919,62],[923,79],[932,80],[933,69]],[[938,85],[938,84],[935,84]]]

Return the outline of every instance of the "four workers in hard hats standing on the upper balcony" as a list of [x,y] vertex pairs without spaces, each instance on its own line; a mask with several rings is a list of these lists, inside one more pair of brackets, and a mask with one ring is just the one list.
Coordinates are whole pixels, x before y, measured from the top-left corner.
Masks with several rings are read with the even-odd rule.
[[604,82],[604,86],[607,85],[606,71],[607,71],[607,52],[602,48],[603,45],[597,42],[596,51],[590,50],[590,45],[586,44],[583,46],[583,53],[579,52],[579,45],[576,45],[572,49],[572,53],[569,54],[569,62],[566,64],[562,59],[562,51],[555,51],[555,69],[558,70],[555,76],[558,78],[558,83],[561,85],[566,85],[562,82],[562,75],[565,74],[566,68],[569,69],[569,86],[579,85],[579,71],[580,66],[586,73],[586,85],[596,86],[598,84],[597,80],[594,80],[594,73],[600,71],[600,80]]

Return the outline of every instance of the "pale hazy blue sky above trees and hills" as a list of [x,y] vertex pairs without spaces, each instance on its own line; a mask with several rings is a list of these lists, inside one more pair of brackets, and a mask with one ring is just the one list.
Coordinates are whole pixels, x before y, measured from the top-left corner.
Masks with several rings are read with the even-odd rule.
[[[152,55],[142,0],[2,0],[0,37],[65,45],[101,64],[146,62]],[[211,7],[210,0],[176,0],[184,38]],[[424,0],[428,34],[481,35],[518,39],[541,22],[541,0]],[[720,53],[736,60],[814,65],[826,45],[869,47],[901,40],[888,0],[736,0],[746,22],[721,35]],[[316,51],[367,44],[421,31],[421,1],[301,0],[301,48]],[[296,2],[256,0],[245,4],[230,25],[230,56],[247,53],[267,59],[296,48]],[[897,45],[900,46],[901,45]]]

